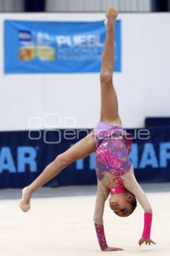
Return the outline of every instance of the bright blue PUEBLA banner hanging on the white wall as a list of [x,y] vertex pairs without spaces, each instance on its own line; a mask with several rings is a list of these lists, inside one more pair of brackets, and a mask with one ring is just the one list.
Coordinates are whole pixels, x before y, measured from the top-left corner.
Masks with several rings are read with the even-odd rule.
[[[104,21],[5,20],[5,73],[100,72]],[[115,67],[121,71],[121,20],[116,21]]]

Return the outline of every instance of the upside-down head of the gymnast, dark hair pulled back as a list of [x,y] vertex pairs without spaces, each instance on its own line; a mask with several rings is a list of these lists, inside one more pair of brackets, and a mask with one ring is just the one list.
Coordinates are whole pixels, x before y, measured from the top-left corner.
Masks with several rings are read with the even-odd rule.
[[113,194],[109,199],[109,206],[120,217],[128,217],[137,207],[137,200],[133,193],[128,191]]

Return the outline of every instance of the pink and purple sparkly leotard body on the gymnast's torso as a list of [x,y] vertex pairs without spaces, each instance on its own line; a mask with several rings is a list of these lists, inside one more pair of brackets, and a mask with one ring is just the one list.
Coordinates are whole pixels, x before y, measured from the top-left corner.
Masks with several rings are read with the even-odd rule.
[[102,121],[95,128],[95,169],[97,179],[103,178],[103,172],[120,176],[130,170],[129,152],[131,134],[126,133],[122,125],[108,125]]

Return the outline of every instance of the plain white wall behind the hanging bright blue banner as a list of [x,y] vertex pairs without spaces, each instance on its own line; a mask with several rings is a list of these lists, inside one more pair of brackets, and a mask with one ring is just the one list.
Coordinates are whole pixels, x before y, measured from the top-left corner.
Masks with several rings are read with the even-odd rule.
[[[114,73],[124,127],[142,127],[146,116],[170,115],[170,14],[120,14],[122,72]],[[99,73],[4,75],[3,20],[102,20],[104,14],[0,14],[0,130],[30,129],[45,113],[75,117],[93,127],[100,117]],[[56,125],[54,125],[56,127]]]

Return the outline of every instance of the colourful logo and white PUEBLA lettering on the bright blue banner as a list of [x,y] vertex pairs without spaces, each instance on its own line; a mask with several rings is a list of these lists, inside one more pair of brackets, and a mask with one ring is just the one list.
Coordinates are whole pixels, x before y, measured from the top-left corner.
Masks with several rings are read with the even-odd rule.
[[[83,61],[90,58],[99,59],[94,47],[103,47],[100,42],[100,35],[58,35],[52,38],[48,33],[39,31],[32,35],[31,31],[19,31],[19,42],[23,44],[19,48],[19,59],[22,61],[31,61],[38,57],[41,61],[54,61],[56,49],[52,47],[55,43],[58,48],[58,59],[61,61],[79,60]],[[79,50],[77,49],[79,47]],[[80,56],[82,53],[82,56]],[[91,54],[94,54],[93,57]],[[83,57],[84,55],[84,57]],[[95,56],[96,55],[96,56]]]

